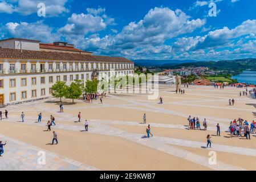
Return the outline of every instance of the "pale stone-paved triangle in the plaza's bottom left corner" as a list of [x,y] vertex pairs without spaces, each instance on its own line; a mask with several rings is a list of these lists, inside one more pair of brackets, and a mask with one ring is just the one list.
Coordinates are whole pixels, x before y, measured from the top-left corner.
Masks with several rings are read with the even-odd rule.
[[[0,139],[5,141],[5,153],[0,157],[0,171],[88,171],[97,170],[72,159],[54,154],[25,142],[0,135]],[[40,151],[45,152],[45,164],[40,164]],[[39,154],[39,155],[38,155]],[[39,160],[39,163],[38,163]]]

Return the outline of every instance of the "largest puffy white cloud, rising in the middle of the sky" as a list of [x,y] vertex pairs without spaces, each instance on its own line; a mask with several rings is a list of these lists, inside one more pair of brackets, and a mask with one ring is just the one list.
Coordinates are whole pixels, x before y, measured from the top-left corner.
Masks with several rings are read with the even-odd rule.
[[205,20],[191,19],[181,10],[172,11],[167,7],[151,9],[144,19],[131,22],[116,35],[86,38],[85,47],[125,50],[141,49],[144,46],[163,46],[165,40],[193,32],[202,27]]

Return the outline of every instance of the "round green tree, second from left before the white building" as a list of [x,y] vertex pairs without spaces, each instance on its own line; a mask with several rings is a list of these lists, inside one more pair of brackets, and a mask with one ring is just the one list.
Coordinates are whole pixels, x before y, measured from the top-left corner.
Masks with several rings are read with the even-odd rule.
[[83,93],[82,87],[77,82],[72,82],[70,86],[67,86],[66,89],[66,98],[72,99],[72,104],[74,104],[74,99],[79,98]]

